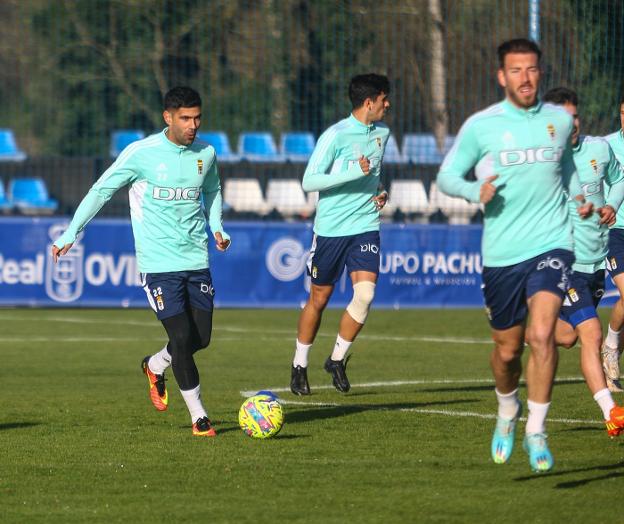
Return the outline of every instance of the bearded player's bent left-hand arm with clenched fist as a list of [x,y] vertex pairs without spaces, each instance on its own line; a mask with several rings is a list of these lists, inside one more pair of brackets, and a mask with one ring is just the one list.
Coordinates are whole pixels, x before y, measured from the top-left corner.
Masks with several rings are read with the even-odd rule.
[[466,174],[481,158],[481,148],[474,123],[464,123],[457,138],[447,153],[437,176],[438,189],[447,195],[463,197],[469,202],[487,203],[494,197],[497,176],[485,180],[469,181]]

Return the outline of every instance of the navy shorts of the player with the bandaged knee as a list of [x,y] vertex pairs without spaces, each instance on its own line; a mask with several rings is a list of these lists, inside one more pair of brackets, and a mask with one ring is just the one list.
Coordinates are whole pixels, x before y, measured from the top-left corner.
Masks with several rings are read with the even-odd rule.
[[318,286],[335,284],[342,272],[370,271],[379,273],[379,231],[346,237],[314,235],[308,274]]

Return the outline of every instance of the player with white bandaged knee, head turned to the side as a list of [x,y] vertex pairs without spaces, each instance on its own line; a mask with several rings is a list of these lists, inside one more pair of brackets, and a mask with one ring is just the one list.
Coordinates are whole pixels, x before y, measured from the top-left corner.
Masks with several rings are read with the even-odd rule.
[[375,294],[379,273],[381,161],[389,129],[380,120],[390,107],[390,85],[382,75],[358,75],[349,84],[351,115],[318,139],[303,176],[305,191],[318,191],[314,239],[308,270],[310,296],[299,317],[290,389],[309,395],[308,352],[334,285],[346,266],[353,298],[340,320],[334,349],[325,361],[334,387],[351,385],[346,375],[347,351],[360,332]]

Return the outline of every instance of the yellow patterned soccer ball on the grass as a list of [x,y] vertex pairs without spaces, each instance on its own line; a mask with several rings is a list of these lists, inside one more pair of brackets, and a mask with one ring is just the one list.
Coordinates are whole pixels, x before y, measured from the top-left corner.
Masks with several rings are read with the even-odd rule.
[[270,391],[260,391],[243,402],[238,423],[250,437],[274,437],[284,424],[282,405]]

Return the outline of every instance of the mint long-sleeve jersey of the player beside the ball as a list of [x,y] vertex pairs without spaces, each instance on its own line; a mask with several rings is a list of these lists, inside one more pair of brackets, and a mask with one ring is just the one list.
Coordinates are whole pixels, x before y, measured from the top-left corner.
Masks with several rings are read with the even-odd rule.
[[[165,273],[209,267],[206,215],[213,234],[221,224],[221,184],[215,150],[195,142],[178,146],[167,129],[126,147],[82,200],[54,243],[62,248],[113,194],[129,186],[130,216],[139,271]],[[202,200],[205,207],[202,209]]]

